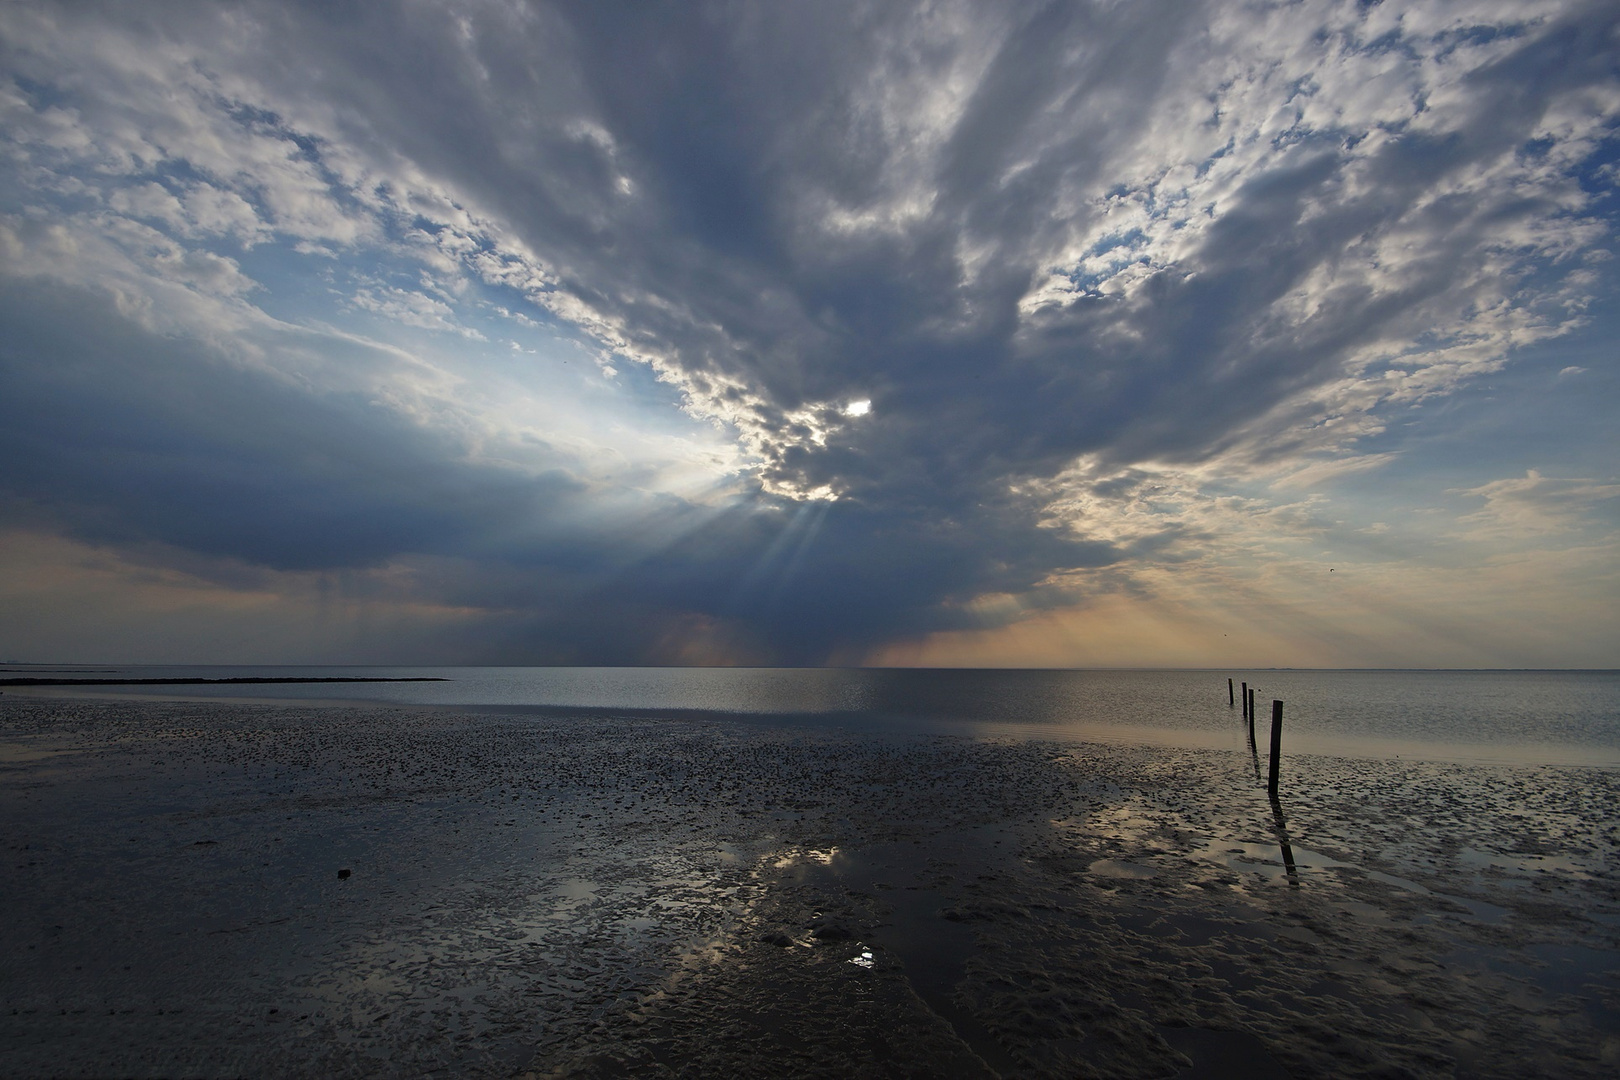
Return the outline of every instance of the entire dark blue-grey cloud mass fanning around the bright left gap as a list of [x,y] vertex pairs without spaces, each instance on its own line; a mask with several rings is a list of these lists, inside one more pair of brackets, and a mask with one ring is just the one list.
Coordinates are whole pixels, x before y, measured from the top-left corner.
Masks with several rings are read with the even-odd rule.
[[[5,295],[15,499],[99,542],[272,568],[467,560],[423,588],[502,610],[505,659],[633,661],[705,619],[815,662],[1179,557],[1196,523],[1098,517],[1134,466],[1346,452],[1385,398],[1455,389],[1578,304],[1560,274],[1601,230],[1570,176],[1620,55],[1596,3],[1498,24],[1333,3],[40,11],[6,52],[32,133],[10,175],[34,188],[8,209],[68,206],[100,170],[160,180],[143,220],[177,236],[353,266],[410,235],[449,253],[446,280],[653,364],[757,457],[760,489],[723,510],[637,494],[629,533],[667,538],[637,542],[595,512],[625,492],[561,452],[538,474],[473,463],[364,393],[143,329],[94,282]],[[165,79],[194,115],[117,94],[167,100]],[[209,157],[211,108],[256,157]],[[199,178],[258,220],[159,206]],[[1377,381],[1392,368],[1409,385]],[[1077,461],[1095,487],[1063,479]],[[1092,517],[1053,520],[1076,491]],[[770,507],[807,492],[839,500]]]

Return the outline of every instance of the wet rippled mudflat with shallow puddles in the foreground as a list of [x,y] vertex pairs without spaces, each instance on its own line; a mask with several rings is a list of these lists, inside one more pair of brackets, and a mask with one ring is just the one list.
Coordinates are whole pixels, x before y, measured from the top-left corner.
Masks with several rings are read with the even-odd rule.
[[1620,774],[1286,764],[6,696],[0,1074],[1620,1070]]

